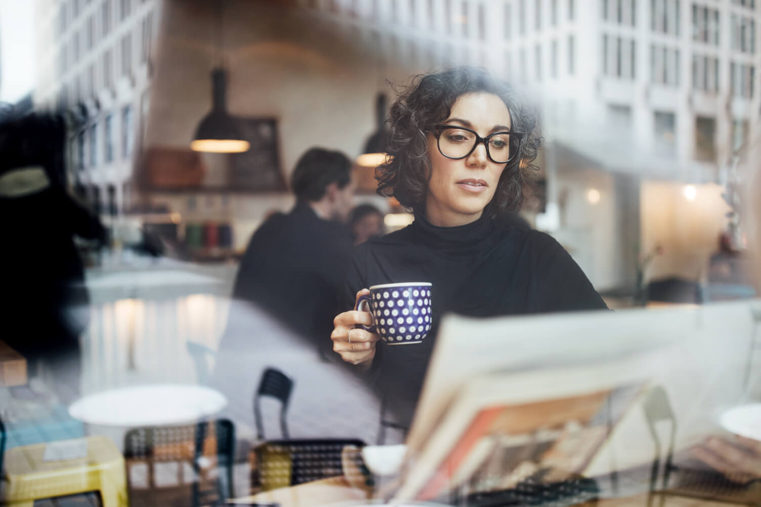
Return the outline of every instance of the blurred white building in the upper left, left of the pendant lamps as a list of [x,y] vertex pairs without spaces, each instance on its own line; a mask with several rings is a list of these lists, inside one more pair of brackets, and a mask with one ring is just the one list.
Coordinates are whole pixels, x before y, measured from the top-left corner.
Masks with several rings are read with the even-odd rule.
[[69,181],[103,214],[129,202],[148,112],[160,0],[37,0],[37,109],[84,119]]

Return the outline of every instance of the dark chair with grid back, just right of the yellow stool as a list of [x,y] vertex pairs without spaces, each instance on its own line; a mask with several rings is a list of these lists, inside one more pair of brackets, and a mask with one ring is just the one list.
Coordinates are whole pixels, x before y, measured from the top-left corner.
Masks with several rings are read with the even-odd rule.
[[[210,429],[212,428],[212,429]],[[180,502],[192,496],[193,505],[224,502],[234,492],[233,467],[235,429],[229,420],[203,421],[186,426],[156,426],[130,429],[124,438],[127,477],[131,505],[159,505]],[[212,461],[212,458],[215,460]],[[145,488],[133,481],[133,469],[145,465]],[[167,486],[158,484],[158,465],[176,464],[176,480]],[[189,487],[184,477],[186,465],[193,471]],[[219,468],[218,477],[209,477],[212,468]],[[158,473],[158,474],[157,474]],[[212,482],[205,488],[205,482]],[[144,492],[141,490],[145,490]],[[143,494],[141,494],[143,493]],[[144,498],[142,498],[144,497]]]

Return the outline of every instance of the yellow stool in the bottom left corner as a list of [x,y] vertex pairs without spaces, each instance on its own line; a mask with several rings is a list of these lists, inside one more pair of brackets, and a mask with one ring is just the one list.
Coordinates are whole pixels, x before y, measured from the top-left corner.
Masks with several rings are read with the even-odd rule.
[[[57,455],[56,455],[57,453]],[[51,456],[53,455],[53,456]],[[105,436],[23,445],[6,455],[5,505],[96,491],[103,507],[126,507],[124,458]]]

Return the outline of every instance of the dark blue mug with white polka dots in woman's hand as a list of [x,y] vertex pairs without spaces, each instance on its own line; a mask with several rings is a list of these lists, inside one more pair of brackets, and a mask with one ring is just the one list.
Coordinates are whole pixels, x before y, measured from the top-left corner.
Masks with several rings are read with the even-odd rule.
[[377,333],[387,344],[419,344],[431,331],[431,284],[374,285],[369,296],[360,296],[355,310],[372,315],[373,325],[362,328]]

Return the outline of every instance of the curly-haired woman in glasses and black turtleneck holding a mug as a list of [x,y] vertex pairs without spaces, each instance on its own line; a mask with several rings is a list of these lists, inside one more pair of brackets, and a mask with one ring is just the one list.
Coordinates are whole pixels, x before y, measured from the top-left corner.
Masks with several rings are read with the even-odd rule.
[[344,361],[376,372],[388,406],[409,426],[441,315],[607,307],[552,237],[494,220],[520,207],[540,145],[536,117],[511,87],[479,68],[419,77],[393,103],[390,126],[378,192],[412,208],[415,221],[355,249],[346,306],[372,285],[431,282],[433,326],[422,344],[384,347],[355,328],[371,316],[348,311],[336,316],[331,338]]

